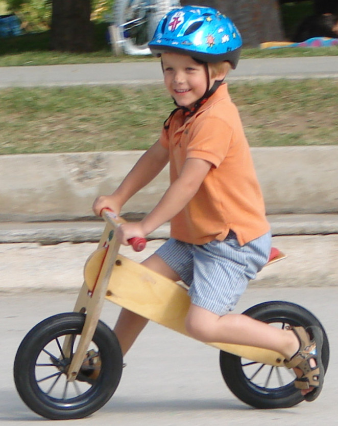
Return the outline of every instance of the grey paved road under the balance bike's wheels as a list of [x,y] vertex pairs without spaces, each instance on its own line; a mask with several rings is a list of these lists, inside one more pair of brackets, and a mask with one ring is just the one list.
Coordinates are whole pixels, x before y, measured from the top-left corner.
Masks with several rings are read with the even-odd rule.
[[[336,424],[338,350],[336,327],[337,287],[252,288],[237,311],[262,301],[286,299],[300,303],[324,324],[331,344],[331,364],[320,398],[312,403],[280,410],[255,410],[237,400],[225,386],[218,366],[218,352],[170,330],[150,324],[126,356],[115,395],[100,411],[69,425],[118,424],[119,426],[298,426]],[[41,418],[19,399],[12,379],[12,364],[19,342],[38,321],[72,309],[71,293],[23,293],[2,295],[1,426],[38,426]],[[102,319],[113,325],[117,308],[106,303]],[[43,421],[43,425],[56,424]],[[67,423],[68,424],[68,423]]]

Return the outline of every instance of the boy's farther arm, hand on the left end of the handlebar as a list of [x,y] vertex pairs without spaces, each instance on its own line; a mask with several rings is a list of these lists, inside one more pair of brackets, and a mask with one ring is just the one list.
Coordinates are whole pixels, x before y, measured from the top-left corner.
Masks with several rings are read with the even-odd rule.
[[93,204],[94,213],[99,216],[101,210],[107,207],[119,214],[126,201],[149,184],[164,168],[168,159],[168,150],[163,148],[160,142],[157,141],[141,156],[123,182],[111,195],[101,195],[95,199]]

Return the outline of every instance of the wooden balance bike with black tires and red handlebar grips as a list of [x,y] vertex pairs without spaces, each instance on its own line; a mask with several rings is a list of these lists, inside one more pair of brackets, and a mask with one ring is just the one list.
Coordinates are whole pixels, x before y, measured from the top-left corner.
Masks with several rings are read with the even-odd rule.
[[[74,311],[41,321],[22,340],[14,362],[17,391],[26,405],[49,419],[76,419],[99,410],[122,375],[122,353],[113,331],[100,320],[105,299],[186,334],[190,299],[186,288],[118,254],[114,230],[124,220],[102,212],[106,227],[98,249],[84,267]],[[144,241],[132,239],[134,250]],[[285,257],[273,249],[269,263]],[[329,362],[327,335],[319,320],[289,302],[260,303],[244,312],[277,327],[318,325],[324,336],[322,361]],[[293,371],[280,353],[250,346],[211,343],[229,389],[256,408],[292,407],[303,400]]]

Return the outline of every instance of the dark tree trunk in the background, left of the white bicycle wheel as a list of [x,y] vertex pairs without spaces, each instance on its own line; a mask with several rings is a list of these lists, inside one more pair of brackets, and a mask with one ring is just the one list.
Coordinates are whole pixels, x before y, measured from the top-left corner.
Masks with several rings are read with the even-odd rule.
[[93,31],[90,0],[53,0],[51,48],[62,52],[90,52]]

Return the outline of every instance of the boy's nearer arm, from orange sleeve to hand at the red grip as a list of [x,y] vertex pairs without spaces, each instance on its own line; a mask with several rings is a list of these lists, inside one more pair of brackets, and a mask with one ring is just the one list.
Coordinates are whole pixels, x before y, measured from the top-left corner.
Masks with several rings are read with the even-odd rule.
[[211,163],[201,159],[187,159],[178,179],[166,190],[157,206],[140,222],[125,223],[118,228],[123,244],[132,237],[145,237],[172,219],[199,190]]

